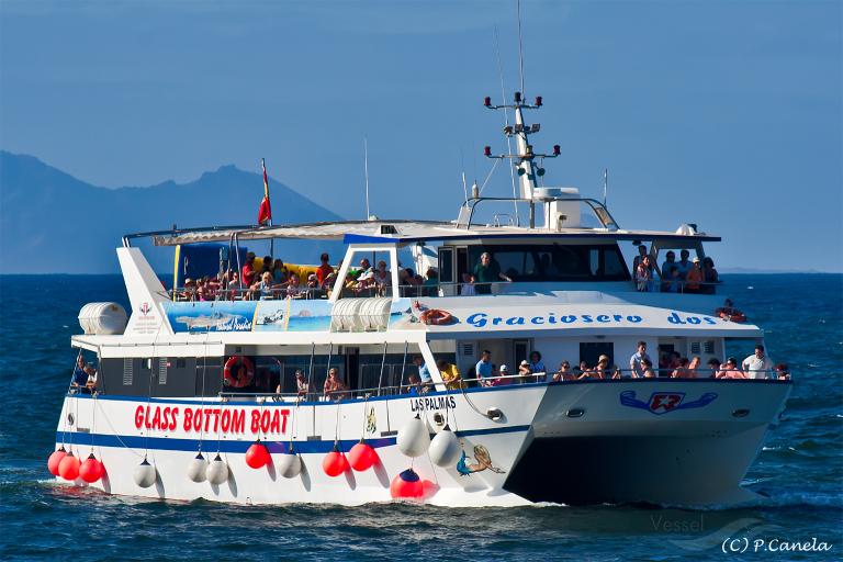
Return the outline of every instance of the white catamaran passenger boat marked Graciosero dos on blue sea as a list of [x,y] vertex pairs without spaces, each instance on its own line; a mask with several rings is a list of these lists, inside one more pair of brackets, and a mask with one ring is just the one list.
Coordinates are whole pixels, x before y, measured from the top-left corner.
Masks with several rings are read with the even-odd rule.
[[[516,94],[493,105],[486,98],[485,105],[514,112],[504,133],[517,150],[486,148],[486,156],[512,161],[519,193],[488,198],[474,188],[456,221],[125,236],[116,254],[131,314],[114,303],[80,314],[85,334],[71,344],[95,363],[97,385],[68,391],[50,471],[111,494],[240,504],[722,506],[755,497],[741,481],[790,381],[712,379],[701,369],[696,379],[626,376],[639,340],[653,362],[657,350],[700,356],[704,364],[724,359],[735,341],[744,349],[763,341],[760,327],[716,313],[719,288],[638,291],[621,252],[643,245],[653,262],[668,249],[701,259],[704,243],[720,238],[693,225],[623,229],[576,189],[541,187],[543,161],[559,155],[558,147],[537,154],[530,143],[539,127],[524,116],[541,99]],[[496,204],[520,205],[528,224],[477,220]],[[241,271],[247,250],[271,240],[339,240],[346,254],[333,286],[310,299],[250,300],[229,290],[184,301],[133,246],[139,238],[175,247],[175,288],[186,271]],[[484,252],[502,276],[468,291],[463,274]],[[202,255],[212,256],[204,271]],[[362,258],[386,263],[380,290],[353,289]],[[438,278],[402,286],[401,259]],[[315,267],[291,269],[304,282]],[[548,373],[479,385],[484,350],[510,372],[538,350]],[[625,376],[552,380],[560,361],[594,366],[603,355]],[[442,359],[464,384],[446,385]],[[427,386],[411,384],[420,362]],[[331,368],[347,392],[322,392]],[[304,392],[296,370],[310,384]]]

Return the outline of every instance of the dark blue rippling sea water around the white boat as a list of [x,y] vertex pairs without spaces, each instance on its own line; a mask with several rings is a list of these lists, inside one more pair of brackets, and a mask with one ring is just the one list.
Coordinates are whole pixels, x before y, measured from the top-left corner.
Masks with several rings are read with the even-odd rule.
[[[745,558],[756,548],[758,559],[841,560],[843,276],[723,279],[723,292],[766,328],[771,357],[790,364],[795,387],[746,476],[765,497],[740,509],[700,512],[238,507],[56,485],[46,459],[76,357],[68,340],[80,331],[77,314],[90,301],[126,303],[126,294],[117,277],[0,277],[0,560],[686,561]],[[813,550],[780,550],[813,540]],[[818,551],[823,542],[831,550]]]

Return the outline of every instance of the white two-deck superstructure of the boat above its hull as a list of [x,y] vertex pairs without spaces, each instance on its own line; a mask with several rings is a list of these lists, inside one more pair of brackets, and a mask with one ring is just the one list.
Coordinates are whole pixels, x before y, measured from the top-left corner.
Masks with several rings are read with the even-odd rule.
[[[623,231],[585,199],[547,204],[540,228],[501,215],[476,224],[480,202],[454,222],[128,235],[117,250],[132,304],[126,328],[77,336],[74,345],[97,353],[99,392],[324,401],[473,392],[483,386],[476,367],[484,353],[501,384],[553,382],[563,363],[569,372],[559,383],[607,382],[630,376],[640,341],[656,375],[671,376],[681,358],[699,358],[696,376],[710,378],[710,359],[745,357],[761,341],[756,326],[720,317],[724,295],[716,282],[692,286],[660,270],[668,251],[677,262],[683,250],[689,262],[706,259],[704,243],[720,238],[694,225]],[[582,206],[596,225],[580,220]],[[137,238],[175,248],[170,289],[133,247]],[[290,239],[341,241],[346,251],[321,273],[315,263],[284,263],[280,282],[261,285],[263,256],[283,259],[274,246]],[[652,266],[642,284],[633,262],[643,256]],[[190,286],[202,279],[204,293]],[[336,384],[326,383],[331,370]]]

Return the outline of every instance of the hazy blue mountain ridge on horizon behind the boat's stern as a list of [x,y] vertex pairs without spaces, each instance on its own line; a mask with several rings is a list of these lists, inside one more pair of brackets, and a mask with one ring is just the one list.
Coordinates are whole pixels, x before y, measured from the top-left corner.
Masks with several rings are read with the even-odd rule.
[[[114,273],[114,248],[133,232],[207,225],[254,224],[262,198],[258,173],[234,166],[195,181],[147,188],[91,186],[33,156],[0,150],[0,273]],[[340,217],[270,179],[276,224]],[[266,243],[254,243],[258,254]],[[340,258],[337,244],[276,243],[276,257],[318,262],[322,249]],[[156,271],[169,272],[172,250],[147,252]]]

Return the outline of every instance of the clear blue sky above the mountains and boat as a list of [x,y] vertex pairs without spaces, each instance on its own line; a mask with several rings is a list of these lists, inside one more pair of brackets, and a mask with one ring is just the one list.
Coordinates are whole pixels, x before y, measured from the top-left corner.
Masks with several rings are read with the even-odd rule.
[[[843,271],[843,3],[524,0],[547,186],[722,268]],[[0,1],[0,148],[102,186],[270,176],[347,218],[454,218],[504,151],[516,2]],[[1,187],[0,187],[1,189]],[[260,187],[256,187],[255,207]],[[484,194],[512,193],[498,170]],[[241,202],[239,204],[251,204]],[[273,205],[283,204],[273,202]],[[506,211],[506,210],[502,210]],[[162,225],[150,224],[155,229]]]

